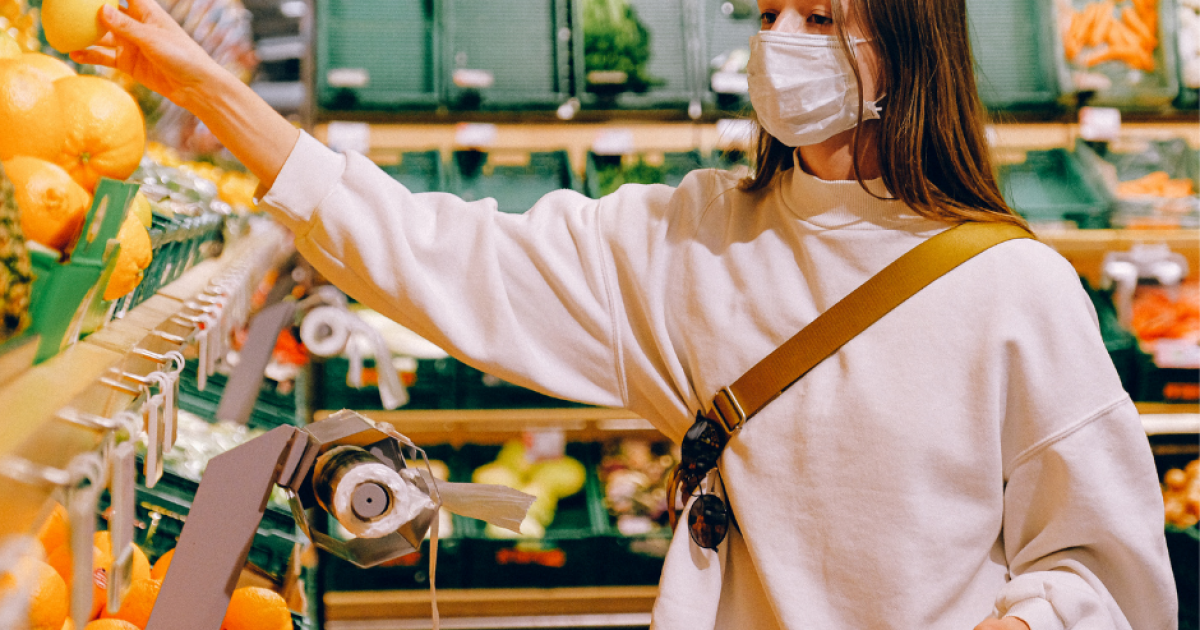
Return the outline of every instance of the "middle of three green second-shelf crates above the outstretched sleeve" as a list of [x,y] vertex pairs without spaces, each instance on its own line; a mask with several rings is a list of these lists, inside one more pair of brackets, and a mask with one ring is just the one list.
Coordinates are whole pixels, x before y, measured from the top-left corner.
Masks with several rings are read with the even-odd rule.
[[479,151],[455,151],[450,169],[450,191],[474,202],[493,198],[502,212],[522,214],[546,193],[578,190],[565,151],[529,154],[523,164],[492,164]]

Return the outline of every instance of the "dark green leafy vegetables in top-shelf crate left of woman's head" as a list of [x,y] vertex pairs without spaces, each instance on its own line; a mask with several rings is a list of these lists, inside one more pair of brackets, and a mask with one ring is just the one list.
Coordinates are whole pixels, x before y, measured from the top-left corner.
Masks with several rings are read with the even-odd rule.
[[[646,71],[650,59],[650,32],[628,0],[584,0],[583,55],[589,91],[619,88],[644,92],[661,83]],[[592,80],[599,72],[622,72],[625,82]]]

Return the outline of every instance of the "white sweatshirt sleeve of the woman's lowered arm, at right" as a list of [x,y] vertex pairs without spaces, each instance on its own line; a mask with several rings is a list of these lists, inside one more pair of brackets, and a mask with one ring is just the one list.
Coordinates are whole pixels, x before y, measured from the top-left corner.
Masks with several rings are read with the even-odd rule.
[[[1024,252],[1022,252],[1024,250]],[[1013,246],[997,617],[1031,630],[1164,630],[1177,596],[1158,473],[1070,264]]]

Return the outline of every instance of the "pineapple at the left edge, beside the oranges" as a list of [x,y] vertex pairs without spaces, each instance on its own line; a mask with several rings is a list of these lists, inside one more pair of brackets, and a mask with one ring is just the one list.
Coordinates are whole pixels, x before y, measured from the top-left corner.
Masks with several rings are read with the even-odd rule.
[[20,215],[12,182],[0,166],[0,343],[29,326],[29,300],[34,272],[20,232]]

